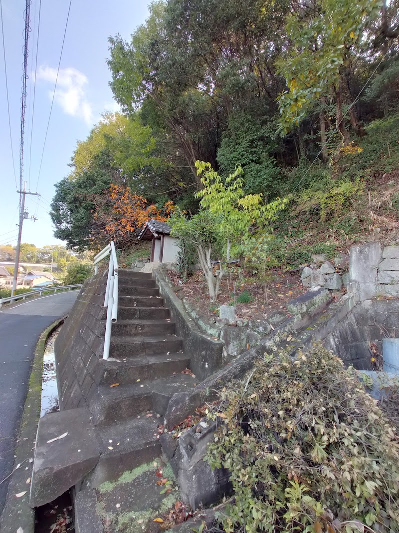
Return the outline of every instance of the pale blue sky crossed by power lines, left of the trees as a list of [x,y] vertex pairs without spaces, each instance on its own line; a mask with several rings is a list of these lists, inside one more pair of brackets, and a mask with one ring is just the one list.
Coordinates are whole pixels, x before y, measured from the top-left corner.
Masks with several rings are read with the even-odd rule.
[[[21,119],[21,77],[23,47],[24,0],[2,0],[4,40],[9,85],[11,132],[16,181],[19,183],[19,149]],[[49,125],[39,177],[45,132],[54,82],[60,60],[69,0],[41,0],[40,36],[36,75],[34,123],[32,102],[35,78],[35,52],[38,27],[39,0],[32,0],[30,8],[31,33],[29,36],[28,96],[24,142],[24,180],[30,190],[41,198],[27,196],[29,215],[38,220],[25,221],[22,242],[36,246],[61,243],[53,237],[53,226],[48,215],[49,202],[54,196],[54,183],[69,172],[70,161],[78,140],[84,140],[90,128],[104,111],[117,110],[108,82],[110,72],[106,65],[107,38],[117,33],[125,39],[147,17],[147,2],[139,0],[72,0],[68,29],[61,61],[55,101]],[[31,160],[30,139],[32,132]],[[0,245],[16,244],[19,195],[11,156],[9,121],[3,61],[0,40]],[[38,181],[39,177],[39,181]]]

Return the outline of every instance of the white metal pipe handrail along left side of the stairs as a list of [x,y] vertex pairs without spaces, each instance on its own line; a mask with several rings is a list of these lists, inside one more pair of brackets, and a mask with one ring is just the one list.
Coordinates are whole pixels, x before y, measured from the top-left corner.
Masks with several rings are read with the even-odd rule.
[[94,258],[94,274],[98,272],[98,263],[110,255],[108,266],[107,286],[105,289],[104,307],[107,308],[105,325],[103,358],[108,359],[110,354],[111,328],[118,320],[118,259],[113,241],[99,252]]

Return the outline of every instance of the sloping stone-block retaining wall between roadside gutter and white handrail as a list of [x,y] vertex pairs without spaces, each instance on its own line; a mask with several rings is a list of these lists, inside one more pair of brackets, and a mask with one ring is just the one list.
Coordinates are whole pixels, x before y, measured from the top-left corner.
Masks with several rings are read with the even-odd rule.
[[60,410],[88,407],[97,393],[98,360],[104,349],[106,274],[98,273],[85,282],[56,338]]

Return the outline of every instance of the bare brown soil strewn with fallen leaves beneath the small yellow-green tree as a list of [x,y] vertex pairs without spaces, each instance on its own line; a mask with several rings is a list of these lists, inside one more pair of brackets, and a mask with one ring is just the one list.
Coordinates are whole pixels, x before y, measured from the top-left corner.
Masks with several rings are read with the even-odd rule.
[[[219,305],[234,305],[234,290],[236,297],[236,315],[245,319],[262,319],[273,312],[285,311],[285,305],[305,292],[300,281],[300,273],[284,273],[273,271],[267,285],[267,294],[256,275],[248,275],[242,282],[237,276],[227,276],[222,280],[217,304],[211,304],[206,281],[202,271],[196,271],[187,281],[182,281],[177,272],[168,270],[168,275],[174,288],[184,292],[198,311],[209,318],[218,316]],[[251,301],[239,303],[240,296],[250,296]],[[238,302],[237,302],[238,300]]]

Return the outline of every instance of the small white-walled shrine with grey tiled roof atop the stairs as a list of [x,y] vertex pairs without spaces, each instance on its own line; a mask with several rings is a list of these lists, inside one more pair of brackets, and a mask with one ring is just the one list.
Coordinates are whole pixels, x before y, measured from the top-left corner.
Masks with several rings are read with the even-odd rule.
[[151,240],[151,261],[174,263],[179,251],[178,239],[170,236],[170,227],[165,222],[151,219],[140,231],[139,240]]

